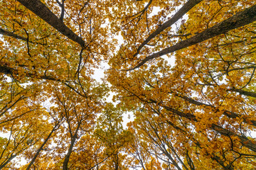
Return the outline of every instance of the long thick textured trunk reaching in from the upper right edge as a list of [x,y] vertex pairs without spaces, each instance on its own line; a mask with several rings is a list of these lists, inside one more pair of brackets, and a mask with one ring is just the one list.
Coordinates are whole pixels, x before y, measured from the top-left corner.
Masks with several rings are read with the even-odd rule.
[[[236,13],[234,16],[226,19],[225,21],[222,21],[221,23],[216,24],[211,28],[204,30],[201,33],[198,33],[198,35],[195,35],[192,38],[188,38],[187,40],[178,42],[176,45],[167,47],[164,50],[161,50],[152,55],[149,55],[144,60],[139,62],[139,64],[137,64],[137,66],[135,66],[132,69],[137,69],[141,67],[143,64],[145,64],[146,62],[148,62],[149,60],[152,60],[154,58],[167,55],[171,52],[181,50],[191,45],[196,45],[199,42],[203,42],[205,40],[208,40],[209,38],[213,38],[217,35],[227,33],[229,30],[233,30],[235,28],[245,26],[249,23],[252,23],[253,21],[256,21],[256,5],[251,6],[250,8],[246,8],[244,11],[240,11]],[[129,70],[132,70],[132,69],[129,69]]]

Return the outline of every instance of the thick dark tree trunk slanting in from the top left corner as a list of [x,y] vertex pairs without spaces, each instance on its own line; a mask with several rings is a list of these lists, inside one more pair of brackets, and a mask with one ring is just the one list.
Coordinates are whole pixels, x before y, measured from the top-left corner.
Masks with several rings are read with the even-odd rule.
[[65,26],[63,21],[55,16],[55,14],[50,11],[50,9],[40,0],[18,0],[18,2],[20,2],[23,6],[28,8],[40,18],[42,18],[43,21],[46,21],[46,23],[50,24],[50,26],[68,37],[70,40],[78,42],[79,45],[85,47],[85,41],[82,40],[82,38],[80,38],[78,35],[76,35],[72,30],[70,30],[70,28]]

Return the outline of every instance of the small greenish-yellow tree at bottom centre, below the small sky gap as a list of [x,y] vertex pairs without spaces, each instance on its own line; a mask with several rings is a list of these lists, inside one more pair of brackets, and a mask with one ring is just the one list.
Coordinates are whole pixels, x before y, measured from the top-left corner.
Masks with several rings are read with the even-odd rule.
[[101,169],[129,169],[125,149],[133,135],[123,129],[122,113],[112,103],[107,103],[105,111],[98,118],[95,135],[104,145],[106,157],[109,157]]

